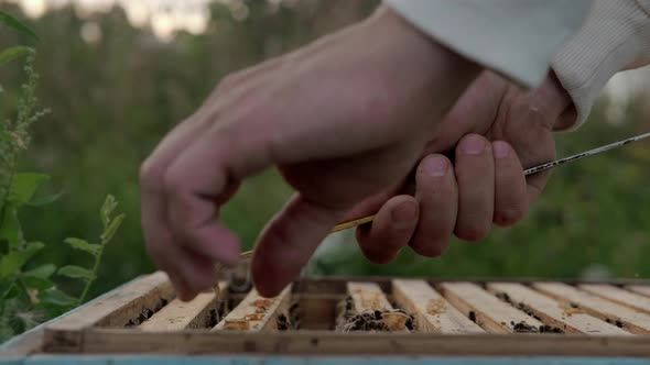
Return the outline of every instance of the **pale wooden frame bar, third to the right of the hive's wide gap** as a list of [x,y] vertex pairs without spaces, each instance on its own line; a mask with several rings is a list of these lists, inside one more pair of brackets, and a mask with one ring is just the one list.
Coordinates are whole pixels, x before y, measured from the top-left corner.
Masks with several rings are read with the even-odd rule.
[[[502,302],[472,283],[442,283],[445,298],[465,316],[491,333],[512,333],[517,324],[539,329],[543,323]],[[470,314],[473,313],[473,314]]]

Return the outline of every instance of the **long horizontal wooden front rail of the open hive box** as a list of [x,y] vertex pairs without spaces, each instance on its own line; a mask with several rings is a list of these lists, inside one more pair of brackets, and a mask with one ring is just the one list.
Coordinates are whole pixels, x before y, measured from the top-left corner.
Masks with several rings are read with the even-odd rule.
[[154,332],[94,330],[86,354],[286,354],[310,356],[650,356],[648,336],[441,335],[336,332]]

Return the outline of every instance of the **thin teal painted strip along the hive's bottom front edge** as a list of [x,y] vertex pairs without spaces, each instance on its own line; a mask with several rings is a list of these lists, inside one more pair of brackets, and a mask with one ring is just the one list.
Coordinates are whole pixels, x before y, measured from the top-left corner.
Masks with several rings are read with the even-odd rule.
[[648,358],[591,357],[249,357],[249,356],[43,356],[17,365],[650,365]]

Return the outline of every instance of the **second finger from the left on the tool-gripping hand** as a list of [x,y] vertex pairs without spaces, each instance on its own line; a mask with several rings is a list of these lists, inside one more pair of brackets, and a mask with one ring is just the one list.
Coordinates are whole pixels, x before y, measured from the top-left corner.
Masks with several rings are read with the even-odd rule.
[[451,166],[445,156],[430,155],[418,168],[415,198],[420,203],[420,222],[411,247],[423,256],[442,255],[456,225],[458,187]]

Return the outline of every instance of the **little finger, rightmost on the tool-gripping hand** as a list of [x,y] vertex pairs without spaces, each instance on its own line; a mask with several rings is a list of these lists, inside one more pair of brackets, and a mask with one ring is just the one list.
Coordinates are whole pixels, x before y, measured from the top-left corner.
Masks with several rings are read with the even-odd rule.
[[500,226],[519,222],[528,212],[528,191],[517,153],[503,142],[492,142],[495,156],[495,218]]

